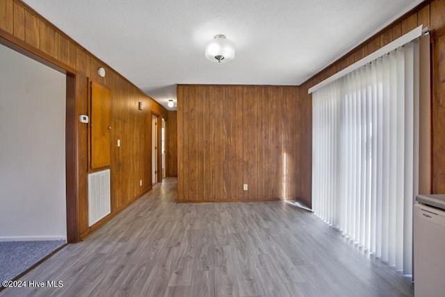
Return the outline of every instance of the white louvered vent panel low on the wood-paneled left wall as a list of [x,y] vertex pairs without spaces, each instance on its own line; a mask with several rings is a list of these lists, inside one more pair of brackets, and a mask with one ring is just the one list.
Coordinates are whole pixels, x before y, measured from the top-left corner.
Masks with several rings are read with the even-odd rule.
[[88,175],[88,224],[97,223],[111,212],[110,170]]

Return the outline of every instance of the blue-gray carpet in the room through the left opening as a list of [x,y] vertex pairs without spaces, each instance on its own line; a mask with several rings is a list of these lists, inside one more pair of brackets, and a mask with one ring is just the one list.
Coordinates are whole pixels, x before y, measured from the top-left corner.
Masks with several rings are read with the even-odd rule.
[[13,280],[65,243],[65,240],[0,241],[0,280]]

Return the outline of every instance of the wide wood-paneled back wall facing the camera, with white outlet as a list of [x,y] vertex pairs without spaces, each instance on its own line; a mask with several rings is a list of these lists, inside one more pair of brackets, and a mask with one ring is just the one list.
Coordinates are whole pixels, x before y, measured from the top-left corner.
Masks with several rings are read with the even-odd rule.
[[310,201],[299,87],[180,85],[177,100],[179,202]]

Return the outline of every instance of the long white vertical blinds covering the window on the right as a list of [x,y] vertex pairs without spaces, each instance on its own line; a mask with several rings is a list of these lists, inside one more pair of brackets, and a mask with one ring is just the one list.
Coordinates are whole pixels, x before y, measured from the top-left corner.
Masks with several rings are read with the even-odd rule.
[[404,274],[418,191],[418,73],[414,40],[312,94],[314,213]]

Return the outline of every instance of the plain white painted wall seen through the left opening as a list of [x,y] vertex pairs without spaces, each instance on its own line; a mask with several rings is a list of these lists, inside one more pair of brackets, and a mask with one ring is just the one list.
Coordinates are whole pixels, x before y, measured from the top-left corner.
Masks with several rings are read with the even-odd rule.
[[65,74],[0,45],[0,241],[66,239]]

